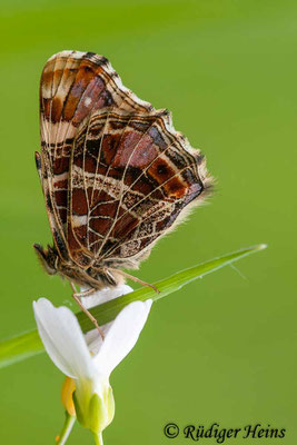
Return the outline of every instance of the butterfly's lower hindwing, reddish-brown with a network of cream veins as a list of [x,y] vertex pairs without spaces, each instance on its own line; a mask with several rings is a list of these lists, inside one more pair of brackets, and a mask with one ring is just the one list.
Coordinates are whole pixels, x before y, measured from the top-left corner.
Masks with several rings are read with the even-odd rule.
[[92,266],[127,268],[208,182],[202,156],[165,110],[93,112],[75,140],[70,178],[68,238],[91,253]]

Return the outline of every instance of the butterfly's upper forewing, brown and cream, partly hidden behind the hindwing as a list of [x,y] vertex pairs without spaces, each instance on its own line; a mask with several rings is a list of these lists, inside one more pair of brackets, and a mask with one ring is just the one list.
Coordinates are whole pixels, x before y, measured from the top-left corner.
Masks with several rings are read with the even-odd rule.
[[[73,141],[88,128],[95,110],[148,113],[150,103],[125,88],[106,58],[91,52],[62,51],[44,66],[40,81],[41,156],[37,165],[56,247],[61,257],[87,261],[87,245],[78,245],[69,229],[69,167]],[[71,202],[79,191],[71,192]],[[75,227],[72,228],[75,230]],[[85,258],[85,259],[83,259]],[[88,261],[87,261],[88,263]]]

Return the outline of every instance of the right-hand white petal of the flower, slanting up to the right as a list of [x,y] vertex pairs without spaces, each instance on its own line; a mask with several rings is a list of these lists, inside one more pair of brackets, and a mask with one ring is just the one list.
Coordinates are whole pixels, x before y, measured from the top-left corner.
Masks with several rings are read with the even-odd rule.
[[110,375],[129,354],[147,320],[152,300],[133,301],[126,306],[109,328],[102,346],[93,357],[97,372]]

